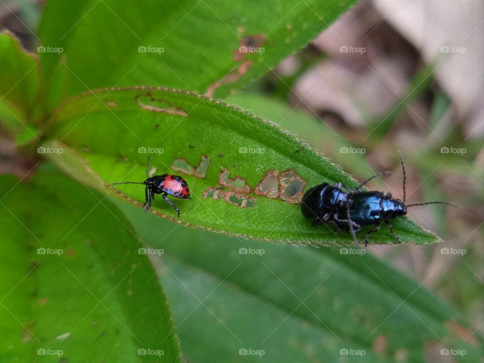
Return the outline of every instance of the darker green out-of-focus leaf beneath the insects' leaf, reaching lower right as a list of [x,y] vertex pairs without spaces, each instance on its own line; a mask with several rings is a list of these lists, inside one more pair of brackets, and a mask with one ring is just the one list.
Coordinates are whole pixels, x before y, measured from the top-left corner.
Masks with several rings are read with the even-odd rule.
[[[154,264],[188,361],[423,363],[443,361],[446,348],[465,349],[463,357],[453,354],[456,362],[480,359],[475,327],[369,250],[228,238],[173,228],[116,204],[145,243],[164,249]],[[430,273],[448,266],[446,260]],[[262,359],[239,355],[249,348],[264,350]]]

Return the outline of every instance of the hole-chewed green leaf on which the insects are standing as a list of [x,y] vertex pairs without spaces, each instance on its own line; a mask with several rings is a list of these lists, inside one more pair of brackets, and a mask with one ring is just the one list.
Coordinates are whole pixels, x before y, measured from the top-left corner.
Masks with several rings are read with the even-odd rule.
[[[349,234],[334,233],[329,225],[313,227],[297,203],[304,187],[356,182],[307,144],[241,109],[182,91],[101,90],[67,103],[51,125],[47,134],[54,140],[45,144],[51,148],[46,156],[93,187],[107,191],[115,182],[143,181],[147,152],[156,174],[183,175],[192,200],[171,198],[181,218],[159,197],[152,208],[173,221],[270,241],[352,243]],[[208,160],[206,174],[195,170]],[[144,202],[142,186],[116,190],[130,202]],[[394,227],[403,241],[436,238],[406,218]],[[386,228],[372,241],[395,242]]]

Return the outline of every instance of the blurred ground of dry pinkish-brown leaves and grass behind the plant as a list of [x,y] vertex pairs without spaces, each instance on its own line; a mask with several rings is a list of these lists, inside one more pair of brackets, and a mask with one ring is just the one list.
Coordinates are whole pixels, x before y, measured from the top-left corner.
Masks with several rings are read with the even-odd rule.
[[[43,2],[0,2],[0,28],[32,50]],[[291,131],[364,180],[409,202],[441,200],[409,217],[444,242],[369,246],[484,332],[484,3],[364,0],[306,48],[225,99]],[[301,128],[300,119],[314,128]],[[5,134],[3,134],[5,135]],[[0,172],[30,168],[1,136]],[[205,238],[212,234],[204,232]],[[227,238],[227,237],[224,237]],[[454,250],[452,250],[452,248]],[[457,251],[458,250],[458,251]],[[436,266],[445,268],[432,274]]]

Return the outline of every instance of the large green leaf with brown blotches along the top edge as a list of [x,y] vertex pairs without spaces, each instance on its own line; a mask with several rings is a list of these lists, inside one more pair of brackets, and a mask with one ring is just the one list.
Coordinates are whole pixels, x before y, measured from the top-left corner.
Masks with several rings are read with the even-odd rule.
[[[69,95],[159,85],[199,93],[216,89],[222,97],[309,43],[353,3],[49,0],[40,37],[44,46],[67,55]],[[260,50],[238,52],[246,45]],[[49,79],[60,54],[41,57]]]

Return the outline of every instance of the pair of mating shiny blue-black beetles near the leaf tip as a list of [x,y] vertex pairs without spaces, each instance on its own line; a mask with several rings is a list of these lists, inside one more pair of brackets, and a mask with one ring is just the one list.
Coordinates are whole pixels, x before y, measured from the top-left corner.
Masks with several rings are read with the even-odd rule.
[[[390,219],[395,219],[399,216],[407,214],[407,208],[417,205],[426,204],[447,204],[457,207],[455,204],[447,202],[426,202],[405,204],[405,166],[400,152],[400,163],[403,170],[403,201],[394,199],[390,192],[386,195],[383,192],[360,192],[359,190],[370,180],[383,175],[390,174],[389,171],[384,171],[373,175],[372,177],[361,183],[355,190],[351,190],[342,183],[330,186],[328,183],[320,184],[308,190],[301,202],[301,212],[307,218],[314,219],[313,225],[318,225],[323,222],[331,222],[338,228],[345,229],[353,236],[356,246],[359,247],[358,239],[355,233],[361,227],[367,225],[376,225],[376,227],[368,231],[365,235],[365,246],[368,244],[370,235],[380,229],[381,223],[385,224],[390,229],[390,233],[401,243],[399,236],[393,231]],[[347,192],[343,191],[343,188]]]

